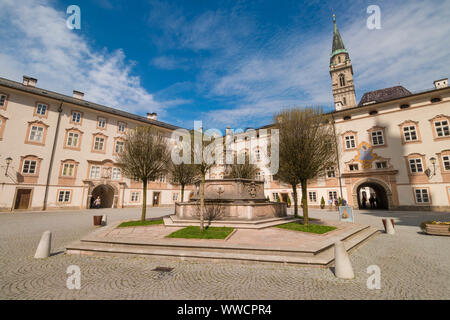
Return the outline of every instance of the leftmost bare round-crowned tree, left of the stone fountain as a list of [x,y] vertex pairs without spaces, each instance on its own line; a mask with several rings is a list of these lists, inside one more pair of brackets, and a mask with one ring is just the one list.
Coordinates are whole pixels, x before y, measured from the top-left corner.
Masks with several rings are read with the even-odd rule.
[[167,142],[159,137],[153,127],[137,127],[129,130],[125,137],[124,149],[116,156],[118,166],[125,176],[142,181],[142,214],[147,212],[147,183],[166,172],[170,161]]

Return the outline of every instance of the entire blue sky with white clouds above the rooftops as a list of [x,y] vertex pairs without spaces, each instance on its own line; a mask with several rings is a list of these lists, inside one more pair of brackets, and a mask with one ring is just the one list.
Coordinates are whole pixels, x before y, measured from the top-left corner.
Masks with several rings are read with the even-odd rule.
[[[69,30],[66,8],[81,8]],[[381,30],[366,27],[369,5]],[[192,127],[257,127],[285,107],[332,108],[332,10],[357,98],[450,71],[450,1],[0,0],[0,76]]]

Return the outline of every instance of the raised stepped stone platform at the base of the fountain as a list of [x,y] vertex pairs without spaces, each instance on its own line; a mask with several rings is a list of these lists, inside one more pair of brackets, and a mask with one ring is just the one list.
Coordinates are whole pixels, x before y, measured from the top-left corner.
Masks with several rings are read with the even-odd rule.
[[[315,222],[318,223],[318,222]],[[323,235],[280,228],[236,229],[227,240],[166,238],[182,227],[152,225],[100,228],[66,247],[68,254],[167,256],[214,261],[290,263],[327,267],[334,261],[333,245],[341,240],[351,250],[378,230],[353,223],[321,221],[338,229]]]

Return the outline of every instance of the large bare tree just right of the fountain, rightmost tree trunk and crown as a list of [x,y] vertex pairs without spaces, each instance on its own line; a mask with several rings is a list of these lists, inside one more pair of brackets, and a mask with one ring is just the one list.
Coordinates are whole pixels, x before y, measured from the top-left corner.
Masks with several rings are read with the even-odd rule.
[[323,175],[326,167],[336,161],[333,127],[327,120],[320,107],[288,109],[275,116],[280,134],[281,174],[284,176],[286,171],[292,170],[291,174],[300,181],[305,225],[309,223],[308,180]]

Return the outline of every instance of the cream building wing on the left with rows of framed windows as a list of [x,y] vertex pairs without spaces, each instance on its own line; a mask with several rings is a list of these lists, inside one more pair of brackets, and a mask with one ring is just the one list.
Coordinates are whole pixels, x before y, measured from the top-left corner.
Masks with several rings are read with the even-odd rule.
[[[115,155],[128,129],[154,125],[169,138],[176,126],[83,99],[0,79],[0,210],[139,206],[142,184],[125,178]],[[178,186],[166,176],[149,183],[147,203],[172,205]]]

